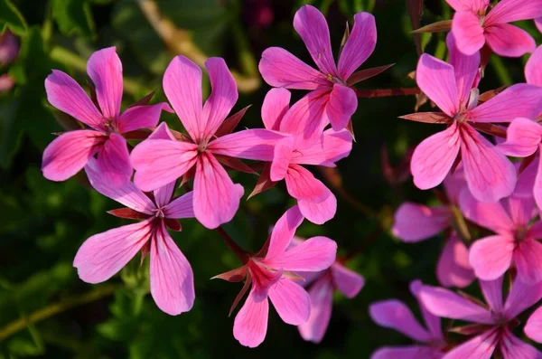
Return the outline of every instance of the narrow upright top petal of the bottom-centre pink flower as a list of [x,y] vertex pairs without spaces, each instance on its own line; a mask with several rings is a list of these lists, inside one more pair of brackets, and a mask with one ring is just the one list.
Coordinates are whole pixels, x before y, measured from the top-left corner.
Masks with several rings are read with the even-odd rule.
[[266,253],[266,260],[273,260],[281,256],[294,238],[295,230],[303,222],[303,215],[299,208],[294,206],[289,208],[276,222],[271,231],[271,240],[269,249]]

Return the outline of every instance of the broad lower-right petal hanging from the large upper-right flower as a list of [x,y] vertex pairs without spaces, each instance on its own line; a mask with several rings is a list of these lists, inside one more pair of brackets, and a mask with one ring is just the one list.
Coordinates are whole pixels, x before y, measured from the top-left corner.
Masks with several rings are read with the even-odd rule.
[[460,131],[463,168],[472,195],[482,202],[509,196],[516,185],[514,165],[471,126],[464,125]]

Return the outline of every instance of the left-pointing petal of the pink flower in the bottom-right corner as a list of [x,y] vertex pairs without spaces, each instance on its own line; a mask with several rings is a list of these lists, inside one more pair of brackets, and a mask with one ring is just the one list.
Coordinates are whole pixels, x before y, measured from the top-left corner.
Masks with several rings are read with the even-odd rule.
[[493,324],[491,312],[453,291],[432,286],[423,286],[419,292],[424,306],[435,316],[460,319],[480,324]]

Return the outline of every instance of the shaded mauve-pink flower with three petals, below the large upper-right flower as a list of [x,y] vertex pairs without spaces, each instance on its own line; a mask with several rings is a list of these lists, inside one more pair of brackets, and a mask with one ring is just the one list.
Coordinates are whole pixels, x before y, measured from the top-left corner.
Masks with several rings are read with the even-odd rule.
[[444,189],[449,203],[427,207],[406,202],[395,213],[392,233],[401,241],[425,241],[437,233],[448,230],[444,249],[436,266],[436,277],[444,287],[464,288],[474,280],[469,264],[469,250],[453,231],[453,206],[459,203],[460,191],[465,187],[463,174],[455,173],[444,179]]

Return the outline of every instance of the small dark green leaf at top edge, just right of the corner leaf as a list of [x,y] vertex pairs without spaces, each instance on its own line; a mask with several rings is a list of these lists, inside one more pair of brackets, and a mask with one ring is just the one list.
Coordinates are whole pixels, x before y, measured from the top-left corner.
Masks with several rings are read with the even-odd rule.
[[52,17],[59,25],[61,33],[72,36],[94,36],[94,21],[86,0],[52,0]]

